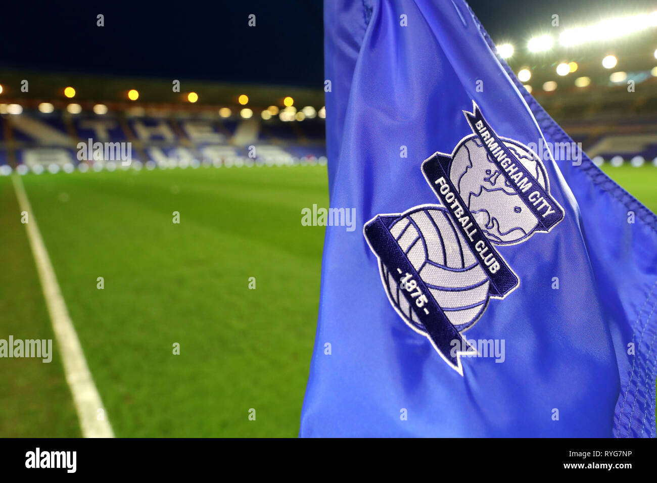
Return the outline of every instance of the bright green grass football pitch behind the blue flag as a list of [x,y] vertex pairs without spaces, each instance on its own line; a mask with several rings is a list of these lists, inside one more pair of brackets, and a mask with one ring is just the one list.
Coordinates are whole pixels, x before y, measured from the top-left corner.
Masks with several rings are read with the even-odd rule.
[[[657,211],[657,168],[604,170]],[[328,205],[326,168],[22,179],[116,436],[296,436],[324,237],[301,210]],[[0,203],[0,336],[52,338],[8,177]],[[58,350],[5,359],[0,387],[0,436],[79,436]]]

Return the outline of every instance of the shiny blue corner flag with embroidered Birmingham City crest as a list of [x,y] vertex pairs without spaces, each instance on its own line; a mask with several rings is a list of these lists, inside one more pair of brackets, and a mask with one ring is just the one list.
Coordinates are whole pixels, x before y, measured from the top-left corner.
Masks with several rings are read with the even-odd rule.
[[300,436],[654,437],[657,217],[470,7],[327,1],[325,71],[357,229],[327,227]]

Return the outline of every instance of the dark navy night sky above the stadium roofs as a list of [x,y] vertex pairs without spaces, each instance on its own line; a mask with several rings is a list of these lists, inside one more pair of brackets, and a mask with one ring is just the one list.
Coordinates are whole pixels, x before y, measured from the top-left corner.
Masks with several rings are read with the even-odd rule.
[[[330,1],[330,0],[328,0]],[[524,44],[549,29],[650,12],[648,0],[472,0],[495,41]],[[104,14],[105,26],[96,26]],[[247,25],[256,14],[256,28]],[[5,2],[0,70],[318,86],[321,0]]]

